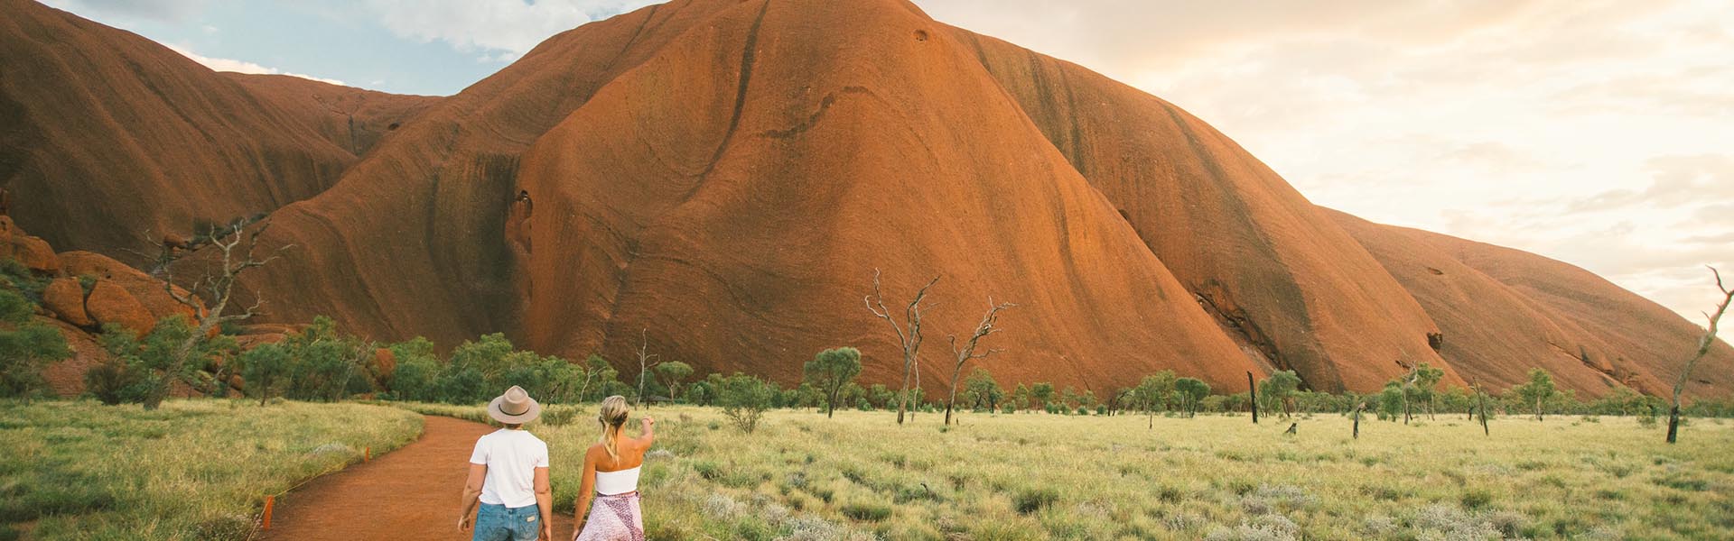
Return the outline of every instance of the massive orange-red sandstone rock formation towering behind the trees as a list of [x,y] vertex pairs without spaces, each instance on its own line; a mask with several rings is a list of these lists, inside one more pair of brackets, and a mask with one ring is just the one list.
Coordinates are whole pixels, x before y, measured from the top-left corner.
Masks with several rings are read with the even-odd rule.
[[[205,118],[229,130],[186,153],[281,149],[305,165],[97,153],[149,139],[151,125],[127,121],[0,151],[14,210],[139,205],[102,224],[35,210],[33,231],[75,246],[276,208],[267,248],[293,246],[241,293],[265,297],[274,323],[326,314],[378,340],[447,347],[505,331],[544,354],[616,361],[645,336],[664,359],[784,383],[813,352],[857,345],[876,383],[900,369],[890,329],[862,305],[879,269],[898,312],[942,276],[929,390],[950,371],[945,335],[971,331],[990,297],[1018,307],[988,338],[1006,352],[980,366],[1098,395],[1157,369],[1222,392],[1271,369],[1375,390],[1415,362],[1453,385],[1500,388],[1545,366],[1583,395],[1659,392],[1684,361],[1673,345],[1694,343],[1689,323],[1569,265],[1316,208],[1172,104],[903,2],[645,7],[557,35],[444,99],[213,75],[35,3],[7,10],[29,16],[0,23],[9,57],[50,29],[88,35],[130,47],[78,45],[97,68],[158,59],[111,76],[184,87],[61,81],[81,99],[175,114],[160,121],[189,134],[217,130]],[[0,113],[49,108],[0,80]],[[191,104],[213,109],[175,113]],[[108,121],[55,108],[73,125]],[[28,118],[24,130],[59,128]],[[19,134],[0,137],[38,137]],[[85,173],[45,168],[45,153],[154,173],[73,196]],[[236,187],[161,210],[113,199],[173,182]],[[1692,390],[1727,394],[1729,357],[1720,345]]]

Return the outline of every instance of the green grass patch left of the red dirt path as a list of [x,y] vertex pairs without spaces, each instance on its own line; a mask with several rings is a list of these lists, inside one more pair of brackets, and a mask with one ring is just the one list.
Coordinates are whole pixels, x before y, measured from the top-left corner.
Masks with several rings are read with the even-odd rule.
[[364,404],[0,404],[0,539],[246,539],[264,496],[420,433]]

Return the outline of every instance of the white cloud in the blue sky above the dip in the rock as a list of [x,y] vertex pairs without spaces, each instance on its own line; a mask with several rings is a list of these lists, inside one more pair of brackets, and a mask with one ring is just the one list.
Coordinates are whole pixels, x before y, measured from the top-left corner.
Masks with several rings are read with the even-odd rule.
[[484,62],[510,62],[555,33],[649,0],[368,0],[401,38],[446,42]]

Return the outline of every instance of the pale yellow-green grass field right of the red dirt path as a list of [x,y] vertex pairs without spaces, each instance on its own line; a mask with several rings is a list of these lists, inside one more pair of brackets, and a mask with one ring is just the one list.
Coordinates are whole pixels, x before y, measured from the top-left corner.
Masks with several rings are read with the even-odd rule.
[[[411,406],[480,418],[479,407]],[[718,409],[657,407],[650,539],[1731,539],[1734,423],[1682,442],[1632,418],[1415,427],[1247,416],[772,411],[744,435]],[[532,425],[570,510],[593,416]],[[636,420],[628,423],[636,427]]]

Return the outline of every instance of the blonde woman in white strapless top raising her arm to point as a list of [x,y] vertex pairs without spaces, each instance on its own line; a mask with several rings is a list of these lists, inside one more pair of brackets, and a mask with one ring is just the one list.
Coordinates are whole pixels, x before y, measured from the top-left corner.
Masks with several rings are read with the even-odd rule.
[[[596,421],[602,440],[584,451],[584,477],[577,487],[577,534],[574,541],[642,541],[645,522],[638,508],[638,470],[655,440],[655,420],[640,420],[638,437],[626,437],[626,397],[602,401]],[[586,518],[584,510],[590,510]]]

